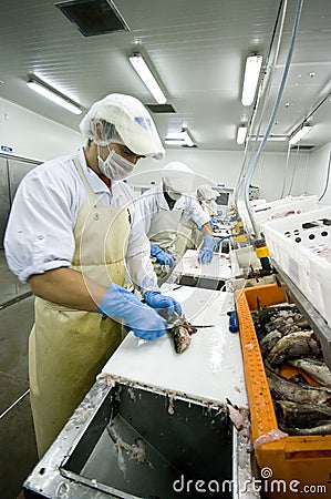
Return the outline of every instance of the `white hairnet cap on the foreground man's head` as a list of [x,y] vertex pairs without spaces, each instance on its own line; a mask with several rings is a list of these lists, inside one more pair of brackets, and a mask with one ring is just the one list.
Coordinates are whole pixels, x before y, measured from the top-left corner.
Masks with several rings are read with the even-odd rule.
[[83,135],[94,139],[94,123],[115,125],[124,144],[135,154],[161,160],[165,155],[154,121],[144,104],[132,95],[111,93],[95,102],[80,123]]

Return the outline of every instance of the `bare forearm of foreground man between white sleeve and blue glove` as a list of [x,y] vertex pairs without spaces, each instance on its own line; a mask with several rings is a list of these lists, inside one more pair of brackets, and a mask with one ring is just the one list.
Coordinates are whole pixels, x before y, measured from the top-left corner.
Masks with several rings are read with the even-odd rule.
[[79,310],[96,312],[107,288],[80,272],[60,267],[28,279],[35,296]]

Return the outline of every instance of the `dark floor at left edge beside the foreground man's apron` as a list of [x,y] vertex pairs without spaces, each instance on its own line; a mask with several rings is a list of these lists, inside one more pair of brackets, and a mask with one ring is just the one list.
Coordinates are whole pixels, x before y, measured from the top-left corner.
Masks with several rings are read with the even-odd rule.
[[28,381],[33,297],[9,271],[0,249],[0,490],[15,499],[38,462]]

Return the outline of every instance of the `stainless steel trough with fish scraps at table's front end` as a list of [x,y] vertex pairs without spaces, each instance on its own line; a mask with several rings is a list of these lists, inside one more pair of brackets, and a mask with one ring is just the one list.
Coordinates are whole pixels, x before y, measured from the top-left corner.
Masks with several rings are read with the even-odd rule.
[[103,376],[23,488],[28,498],[230,498],[234,454],[225,406]]

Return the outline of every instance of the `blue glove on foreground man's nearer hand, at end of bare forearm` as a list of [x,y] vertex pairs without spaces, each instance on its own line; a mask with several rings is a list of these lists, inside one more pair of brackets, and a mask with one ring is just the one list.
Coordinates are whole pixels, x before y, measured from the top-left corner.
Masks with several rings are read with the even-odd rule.
[[124,319],[138,338],[156,339],[166,333],[166,320],[117,284],[110,285],[96,312]]

